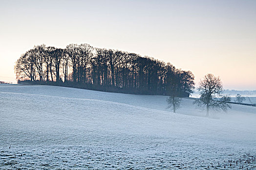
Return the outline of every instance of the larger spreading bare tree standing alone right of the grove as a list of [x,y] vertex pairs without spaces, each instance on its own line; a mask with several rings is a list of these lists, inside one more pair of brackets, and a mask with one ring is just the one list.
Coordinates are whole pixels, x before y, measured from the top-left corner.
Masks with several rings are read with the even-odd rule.
[[231,108],[230,97],[223,95],[223,85],[219,77],[213,74],[207,74],[204,79],[200,81],[198,91],[200,98],[194,103],[199,107],[206,106],[206,116],[209,116],[209,109],[227,111]]

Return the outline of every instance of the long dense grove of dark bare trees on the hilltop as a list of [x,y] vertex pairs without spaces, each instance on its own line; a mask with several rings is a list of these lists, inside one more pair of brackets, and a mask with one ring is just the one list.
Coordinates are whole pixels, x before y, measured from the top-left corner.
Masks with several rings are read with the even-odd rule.
[[139,54],[69,44],[65,49],[34,46],[17,60],[16,78],[31,82],[123,89],[127,93],[188,97],[194,89],[191,71]]

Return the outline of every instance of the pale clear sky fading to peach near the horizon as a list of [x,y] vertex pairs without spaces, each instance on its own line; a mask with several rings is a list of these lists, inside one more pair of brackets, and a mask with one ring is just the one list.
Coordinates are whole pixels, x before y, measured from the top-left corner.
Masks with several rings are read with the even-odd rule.
[[256,0],[0,0],[0,81],[34,45],[135,52],[256,90]]

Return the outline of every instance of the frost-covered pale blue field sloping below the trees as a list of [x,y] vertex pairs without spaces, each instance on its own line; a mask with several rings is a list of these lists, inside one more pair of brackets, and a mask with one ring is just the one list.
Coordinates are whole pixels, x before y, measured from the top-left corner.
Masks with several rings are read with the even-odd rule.
[[0,85],[0,169],[256,169],[256,107],[166,98]]

